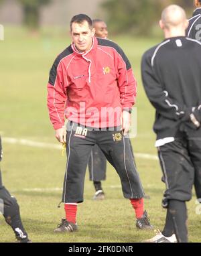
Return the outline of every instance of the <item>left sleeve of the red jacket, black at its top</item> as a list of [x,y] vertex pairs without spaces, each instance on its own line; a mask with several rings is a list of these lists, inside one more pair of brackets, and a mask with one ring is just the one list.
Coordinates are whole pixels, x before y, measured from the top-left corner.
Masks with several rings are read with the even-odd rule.
[[54,129],[64,125],[64,109],[67,100],[64,90],[64,69],[62,62],[56,60],[50,70],[48,82],[48,110]]

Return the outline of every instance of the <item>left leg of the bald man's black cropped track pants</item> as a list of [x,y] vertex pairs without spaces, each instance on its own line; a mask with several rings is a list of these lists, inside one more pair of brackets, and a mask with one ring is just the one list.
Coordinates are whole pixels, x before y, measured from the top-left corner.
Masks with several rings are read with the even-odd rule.
[[158,155],[166,185],[163,206],[170,199],[189,201],[192,198],[194,166],[188,151],[188,140],[178,138],[162,145],[158,147]]

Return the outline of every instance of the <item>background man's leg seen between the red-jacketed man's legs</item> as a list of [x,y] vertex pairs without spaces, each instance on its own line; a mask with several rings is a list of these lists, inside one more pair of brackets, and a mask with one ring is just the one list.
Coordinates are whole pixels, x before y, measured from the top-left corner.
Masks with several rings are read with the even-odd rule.
[[89,178],[93,181],[94,188],[96,190],[93,197],[94,200],[103,200],[105,198],[101,180],[106,179],[106,166],[107,160],[105,155],[100,150],[98,145],[94,145],[88,162]]

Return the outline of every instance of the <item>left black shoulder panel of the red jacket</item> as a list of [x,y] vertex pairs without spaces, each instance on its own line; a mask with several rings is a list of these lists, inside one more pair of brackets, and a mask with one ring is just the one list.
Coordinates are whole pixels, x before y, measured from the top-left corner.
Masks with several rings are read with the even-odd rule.
[[73,50],[71,46],[68,46],[61,54],[58,55],[56,60],[54,60],[54,64],[52,65],[52,68],[50,70],[50,76],[49,76],[49,83],[54,86],[55,80],[56,80],[56,72],[58,68],[58,64],[60,61],[65,58],[66,56],[70,55],[73,53]]

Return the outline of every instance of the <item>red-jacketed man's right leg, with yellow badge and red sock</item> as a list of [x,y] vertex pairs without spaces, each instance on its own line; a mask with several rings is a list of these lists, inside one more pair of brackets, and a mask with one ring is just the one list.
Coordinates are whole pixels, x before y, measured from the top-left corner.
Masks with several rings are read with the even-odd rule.
[[117,170],[123,195],[131,200],[139,229],[151,229],[147,212],[143,210],[143,187],[137,173],[130,141],[122,131],[100,131],[98,145]]

